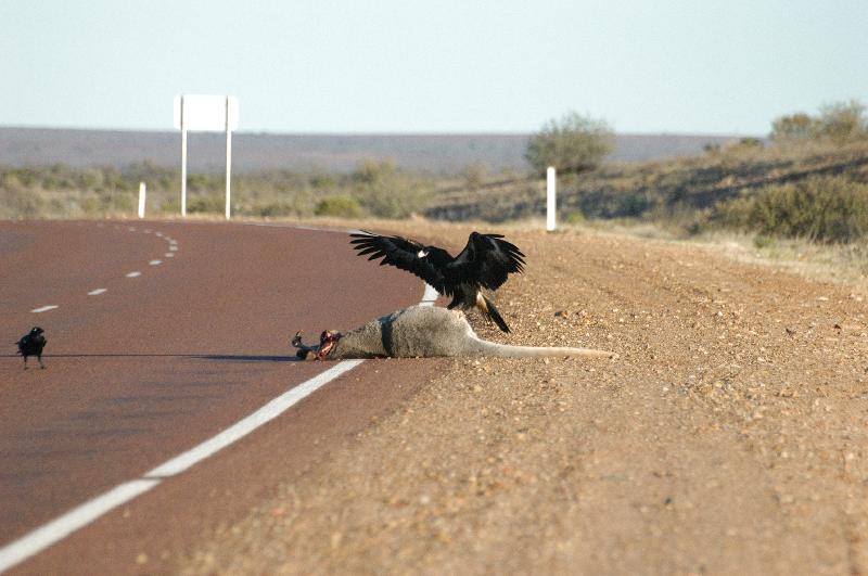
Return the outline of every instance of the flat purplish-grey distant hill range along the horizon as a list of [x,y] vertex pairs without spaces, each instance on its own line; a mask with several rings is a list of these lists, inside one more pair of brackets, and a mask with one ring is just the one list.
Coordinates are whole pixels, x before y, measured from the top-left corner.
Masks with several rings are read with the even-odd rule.
[[[529,135],[278,135],[232,137],[232,167],[347,172],[366,158],[392,158],[401,168],[456,174],[481,163],[492,171],[527,169],[524,151]],[[725,144],[738,137],[617,135],[611,159],[622,162],[701,154],[706,144]],[[0,165],[75,167],[117,166],[149,161],[158,166],[180,163],[178,132],[77,130],[0,127]],[[219,171],[225,162],[225,136],[188,135],[191,171]]]

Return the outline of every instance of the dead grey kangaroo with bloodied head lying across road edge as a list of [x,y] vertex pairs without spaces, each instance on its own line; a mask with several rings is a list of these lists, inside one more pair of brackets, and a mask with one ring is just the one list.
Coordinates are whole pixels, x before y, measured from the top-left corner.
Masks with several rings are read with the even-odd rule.
[[481,340],[458,310],[436,306],[411,306],[372,320],[348,332],[327,330],[320,343],[306,346],[302,333],[292,345],[306,360],[348,358],[430,358],[437,356],[499,356],[503,358],[582,357],[615,358],[591,348],[508,346]]

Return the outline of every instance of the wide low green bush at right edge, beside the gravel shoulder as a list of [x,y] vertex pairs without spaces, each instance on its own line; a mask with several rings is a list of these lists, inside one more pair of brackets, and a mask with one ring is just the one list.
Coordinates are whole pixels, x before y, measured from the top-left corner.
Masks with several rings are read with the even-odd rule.
[[768,185],[720,204],[717,219],[762,235],[852,242],[868,231],[868,184],[842,176],[817,176]]

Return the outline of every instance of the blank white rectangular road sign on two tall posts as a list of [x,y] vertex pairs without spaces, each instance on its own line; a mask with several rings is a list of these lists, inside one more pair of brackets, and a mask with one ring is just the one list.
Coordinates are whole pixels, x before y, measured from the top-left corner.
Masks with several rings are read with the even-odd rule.
[[175,128],[181,130],[181,216],[187,217],[187,131],[226,130],[226,218],[230,216],[232,130],[238,129],[238,99],[230,95],[178,94]]

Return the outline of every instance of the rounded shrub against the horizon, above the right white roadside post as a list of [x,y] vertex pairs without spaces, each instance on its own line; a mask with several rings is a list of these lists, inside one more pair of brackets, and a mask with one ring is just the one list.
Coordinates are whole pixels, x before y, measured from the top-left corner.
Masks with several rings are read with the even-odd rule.
[[531,137],[524,157],[539,174],[549,166],[578,174],[599,166],[612,150],[614,135],[604,120],[570,112]]

